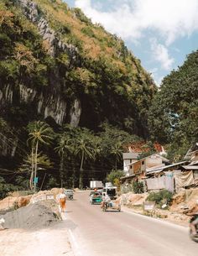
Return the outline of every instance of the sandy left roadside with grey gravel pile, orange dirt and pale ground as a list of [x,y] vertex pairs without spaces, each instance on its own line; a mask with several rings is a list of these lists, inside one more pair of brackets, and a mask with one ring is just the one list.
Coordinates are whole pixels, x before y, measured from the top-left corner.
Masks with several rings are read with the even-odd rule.
[[[55,200],[59,192],[60,189],[55,188],[21,196],[23,191],[18,191],[0,201],[1,255],[74,256]],[[19,201],[23,203],[18,204]]]

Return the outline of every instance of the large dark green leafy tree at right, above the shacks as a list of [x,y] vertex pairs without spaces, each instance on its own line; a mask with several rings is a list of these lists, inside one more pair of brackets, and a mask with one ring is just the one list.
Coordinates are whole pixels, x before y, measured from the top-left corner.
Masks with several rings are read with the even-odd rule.
[[198,50],[164,77],[149,111],[153,138],[168,144],[169,157],[180,160],[198,140]]

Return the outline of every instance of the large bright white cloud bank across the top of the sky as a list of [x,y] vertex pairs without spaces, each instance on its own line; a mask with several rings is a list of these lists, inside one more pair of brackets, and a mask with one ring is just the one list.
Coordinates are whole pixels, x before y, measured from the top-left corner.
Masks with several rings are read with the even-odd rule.
[[[197,0],[106,0],[112,4],[109,12],[98,10],[91,0],[76,0],[93,22],[123,39],[135,41],[145,30],[157,31],[165,44],[189,36],[198,30]],[[102,3],[101,3],[102,4]]]

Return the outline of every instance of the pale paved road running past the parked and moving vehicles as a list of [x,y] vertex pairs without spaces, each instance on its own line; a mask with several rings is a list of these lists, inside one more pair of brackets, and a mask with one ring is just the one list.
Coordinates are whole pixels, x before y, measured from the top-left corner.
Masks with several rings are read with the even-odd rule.
[[88,192],[68,201],[65,225],[77,256],[197,256],[188,229],[128,212],[102,212]]

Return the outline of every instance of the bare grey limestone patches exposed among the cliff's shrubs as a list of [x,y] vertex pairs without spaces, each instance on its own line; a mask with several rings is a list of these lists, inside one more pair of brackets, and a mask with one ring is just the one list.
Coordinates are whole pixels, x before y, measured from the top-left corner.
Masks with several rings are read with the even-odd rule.
[[[42,15],[39,15],[38,5],[36,3],[29,0],[18,0],[16,2],[22,8],[24,15],[36,25],[39,34],[49,45],[49,55],[55,57],[56,51],[65,51],[70,55],[71,60],[76,61],[77,48],[72,44],[63,43],[57,37],[55,30],[50,29],[48,22]],[[50,90],[38,91],[35,88],[29,87],[28,84],[16,83],[14,86],[9,84],[2,85],[0,88],[0,103],[2,106],[5,104],[12,105],[13,95],[15,95],[15,97],[18,97],[19,104],[34,102],[35,111],[44,118],[53,118],[57,124],[61,125],[65,122],[65,117],[68,114],[70,123],[74,127],[78,126],[81,117],[80,100],[76,98],[70,108],[67,108],[67,102],[61,95],[60,83],[57,82],[54,86],[56,89],[50,88]],[[51,89],[53,90],[51,91]]]

